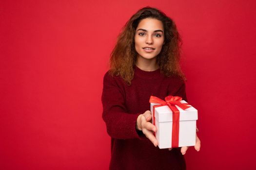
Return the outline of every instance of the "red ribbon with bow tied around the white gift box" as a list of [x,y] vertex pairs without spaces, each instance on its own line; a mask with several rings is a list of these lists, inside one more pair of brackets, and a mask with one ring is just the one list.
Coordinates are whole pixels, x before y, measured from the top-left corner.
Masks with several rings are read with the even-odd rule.
[[[179,106],[181,109],[185,110],[191,106],[188,106],[188,103],[181,103],[182,100],[179,96],[167,96],[164,98],[165,101],[155,97],[150,96],[149,102],[152,103],[159,103],[159,105],[153,106],[153,124],[156,125],[155,119],[155,108],[168,105],[173,112],[173,131],[172,131],[172,148],[178,147],[178,134],[179,134],[179,110],[177,109],[176,105]],[[156,136],[156,133],[154,133]]]

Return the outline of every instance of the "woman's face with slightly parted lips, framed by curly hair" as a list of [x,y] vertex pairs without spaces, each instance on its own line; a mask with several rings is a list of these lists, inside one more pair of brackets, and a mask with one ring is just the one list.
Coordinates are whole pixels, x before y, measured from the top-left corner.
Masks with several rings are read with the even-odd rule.
[[142,19],[135,33],[135,50],[137,57],[154,59],[164,43],[164,29],[161,21],[155,18]]

